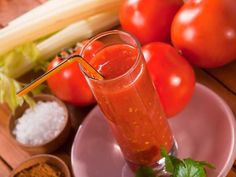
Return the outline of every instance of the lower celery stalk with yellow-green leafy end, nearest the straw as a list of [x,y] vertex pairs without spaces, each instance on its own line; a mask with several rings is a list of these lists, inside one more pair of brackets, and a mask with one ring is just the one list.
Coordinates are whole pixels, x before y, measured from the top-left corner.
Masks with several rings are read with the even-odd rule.
[[0,56],[1,70],[11,78],[18,78],[33,69],[38,62],[55,56],[63,48],[69,48],[76,42],[108,30],[118,23],[117,12],[105,12],[81,20],[38,44],[27,43]]

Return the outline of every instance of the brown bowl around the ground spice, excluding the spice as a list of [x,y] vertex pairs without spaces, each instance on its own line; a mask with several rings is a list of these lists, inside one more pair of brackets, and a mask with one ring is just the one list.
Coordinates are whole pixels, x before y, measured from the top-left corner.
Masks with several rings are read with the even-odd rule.
[[19,164],[18,167],[16,167],[10,174],[10,177],[15,177],[19,172],[21,172],[24,169],[29,169],[32,166],[35,166],[40,163],[47,163],[58,170],[60,170],[63,174],[63,177],[71,177],[69,168],[65,164],[63,160],[60,158],[49,155],[49,154],[41,154],[41,155],[35,155],[27,159],[26,161]]

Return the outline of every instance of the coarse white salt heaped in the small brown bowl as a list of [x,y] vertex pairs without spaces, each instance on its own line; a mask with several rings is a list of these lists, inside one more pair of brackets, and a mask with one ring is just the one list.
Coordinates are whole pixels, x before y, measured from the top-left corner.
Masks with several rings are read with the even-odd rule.
[[16,120],[13,134],[25,145],[40,145],[55,138],[65,124],[65,111],[55,101],[38,101]]

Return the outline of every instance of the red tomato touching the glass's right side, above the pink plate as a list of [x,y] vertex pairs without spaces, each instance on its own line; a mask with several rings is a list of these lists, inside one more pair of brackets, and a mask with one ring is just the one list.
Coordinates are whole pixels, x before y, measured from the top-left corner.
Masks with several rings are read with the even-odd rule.
[[195,75],[191,65],[168,44],[155,42],[143,46],[148,70],[167,117],[182,111],[192,97]]

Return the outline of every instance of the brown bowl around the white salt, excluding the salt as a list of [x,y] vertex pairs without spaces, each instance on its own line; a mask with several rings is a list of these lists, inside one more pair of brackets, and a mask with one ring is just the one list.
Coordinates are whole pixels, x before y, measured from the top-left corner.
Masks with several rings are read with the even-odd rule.
[[68,109],[62,101],[60,101],[58,98],[56,98],[55,96],[50,95],[50,94],[39,94],[39,95],[33,97],[33,99],[36,102],[37,101],[55,101],[64,109],[66,121],[63,125],[63,128],[61,129],[61,132],[55,138],[48,140],[44,144],[40,144],[40,145],[26,145],[26,144],[23,144],[23,143],[17,141],[16,137],[12,133],[12,131],[15,127],[16,119],[21,117],[23,115],[23,113],[25,112],[25,110],[29,107],[27,104],[23,104],[22,106],[18,107],[16,109],[15,114],[11,115],[9,118],[9,122],[8,122],[9,134],[10,134],[11,138],[13,139],[13,141],[15,141],[16,144],[18,144],[25,151],[28,151],[30,154],[51,153],[51,152],[55,151],[56,149],[58,149],[65,142],[65,140],[67,139],[67,137],[70,133],[71,126],[70,126]]

